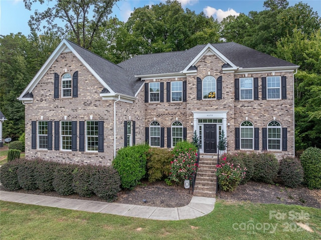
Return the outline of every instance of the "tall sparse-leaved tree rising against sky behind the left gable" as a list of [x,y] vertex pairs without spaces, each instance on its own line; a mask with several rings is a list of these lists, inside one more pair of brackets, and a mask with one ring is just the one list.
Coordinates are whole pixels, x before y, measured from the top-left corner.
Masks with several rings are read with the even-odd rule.
[[[61,36],[71,33],[74,41],[88,49],[91,47],[99,28],[103,26],[112,7],[118,0],[47,0],[57,1],[53,7],[44,12],[35,11],[29,20],[29,26],[33,31],[39,31],[43,22],[45,30],[55,31]],[[44,0],[24,0],[25,7],[31,10],[32,4]],[[64,26],[57,24],[57,21],[65,23]]]

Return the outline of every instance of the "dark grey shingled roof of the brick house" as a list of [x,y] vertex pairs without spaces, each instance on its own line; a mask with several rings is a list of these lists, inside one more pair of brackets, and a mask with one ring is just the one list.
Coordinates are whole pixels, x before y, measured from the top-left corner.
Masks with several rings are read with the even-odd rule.
[[[67,41],[115,93],[129,96],[134,96],[143,83],[134,76],[179,73],[206,46],[198,45],[186,51],[138,55],[116,65],[69,40]],[[212,46],[239,68],[296,66],[233,42],[212,44]],[[223,68],[226,67],[231,66],[228,64],[223,65]],[[195,69],[193,66],[189,68],[189,70]],[[106,92],[106,90],[102,92]]]

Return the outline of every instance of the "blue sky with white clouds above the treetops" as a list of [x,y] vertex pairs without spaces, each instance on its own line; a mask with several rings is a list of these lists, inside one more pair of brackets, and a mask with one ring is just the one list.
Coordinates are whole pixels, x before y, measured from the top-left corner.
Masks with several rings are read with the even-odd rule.
[[[118,7],[113,8],[111,16],[116,16],[119,20],[126,22],[134,8],[161,2],[165,3],[165,1],[159,0],[121,0],[117,3]],[[181,2],[184,9],[188,8],[197,14],[203,11],[207,16],[213,16],[218,21],[221,21],[228,15],[238,15],[240,13],[247,15],[249,11],[260,12],[264,10],[264,1],[259,0],[179,0],[179,2]],[[320,0],[288,0],[288,2],[289,6],[293,6],[298,2],[306,3],[314,12],[318,13],[318,16],[321,16]],[[45,3],[47,3],[46,0]],[[36,9],[42,12],[46,8],[46,4],[34,4],[32,11],[28,11],[25,9],[23,0],[0,0],[0,34],[8,35],[10,33],[17,34],[21,32],[28,36],[30,34],[28,26],[30,16]]]

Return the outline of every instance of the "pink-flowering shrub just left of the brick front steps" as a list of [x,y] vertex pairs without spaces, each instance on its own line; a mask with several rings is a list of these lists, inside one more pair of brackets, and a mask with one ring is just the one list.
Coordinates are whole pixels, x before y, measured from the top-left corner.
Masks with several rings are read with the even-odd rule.
[[[197,150],[190,143],[178,143],[173,149],[173,161],[171,161],[171,172],[169,179],[181,182],[185,179],[192,179],[198,169]],[[185,146],[185,147],[183,147]]]

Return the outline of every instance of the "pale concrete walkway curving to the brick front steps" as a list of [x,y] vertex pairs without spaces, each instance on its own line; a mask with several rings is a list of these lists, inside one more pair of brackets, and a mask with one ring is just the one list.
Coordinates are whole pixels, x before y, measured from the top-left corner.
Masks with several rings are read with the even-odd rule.
[[157,220],[181,220],[204,216],[213,211],[215,204],[215,198],[193,196],[191,202],[187,206],[166,208],[33,195],[9,191],[0,191],[0,200]]

